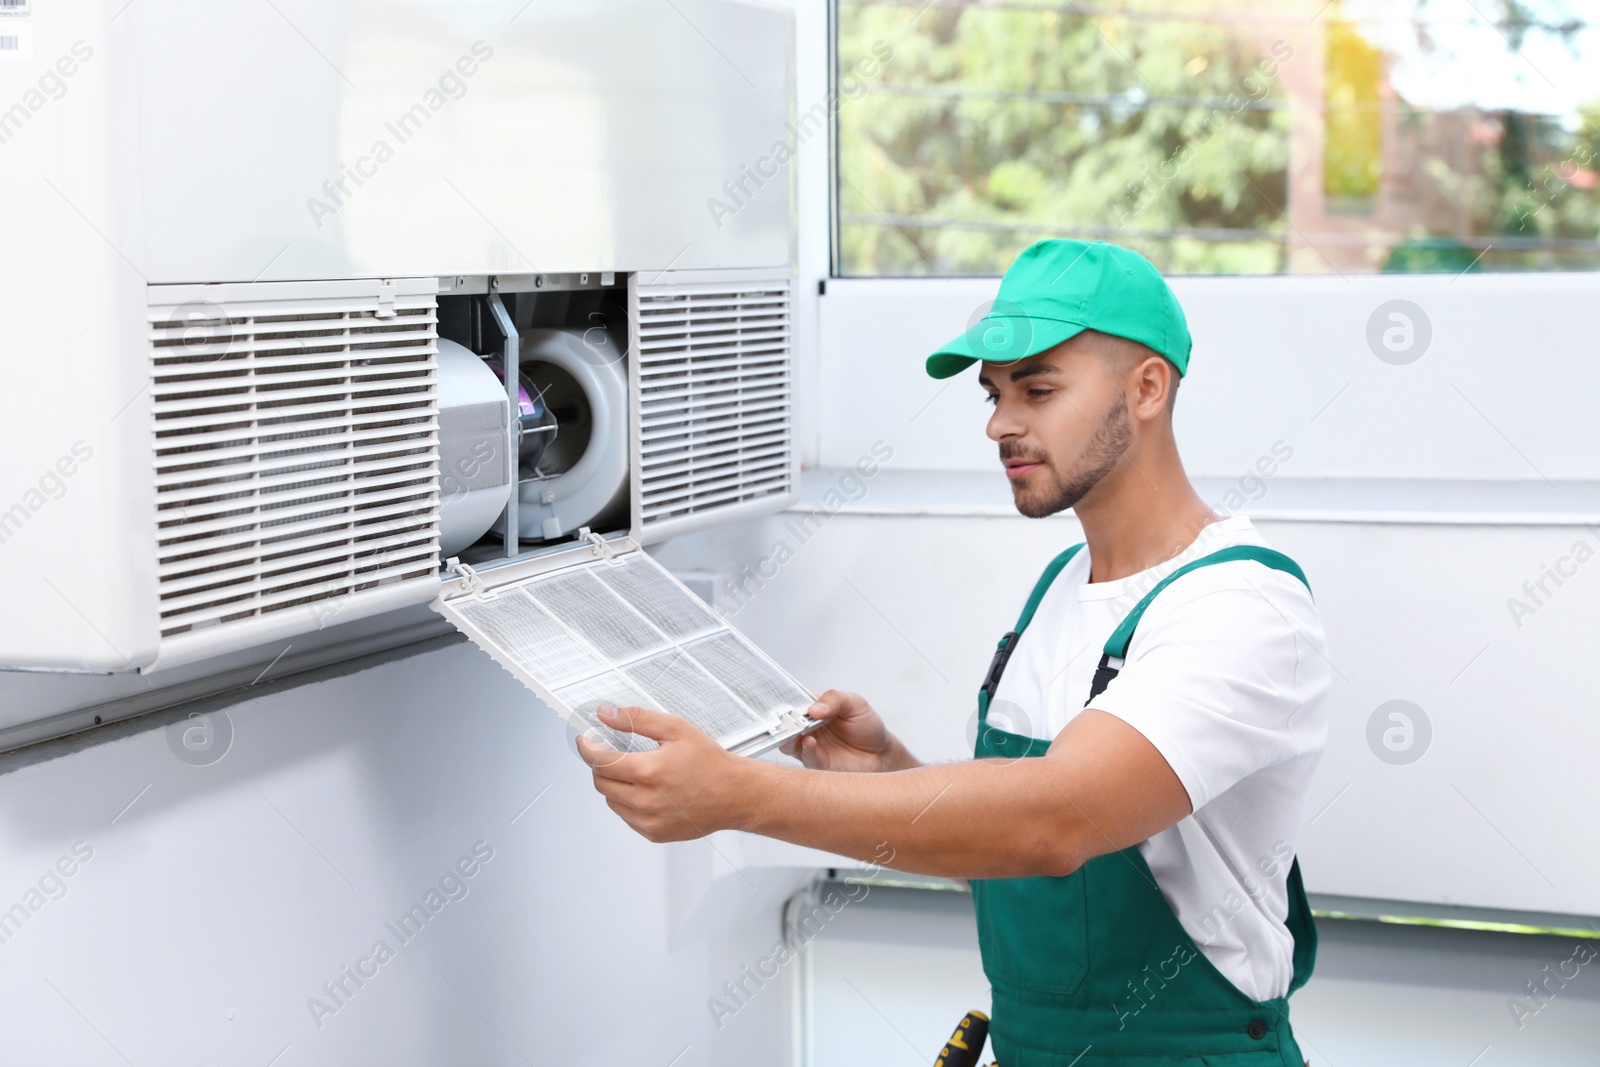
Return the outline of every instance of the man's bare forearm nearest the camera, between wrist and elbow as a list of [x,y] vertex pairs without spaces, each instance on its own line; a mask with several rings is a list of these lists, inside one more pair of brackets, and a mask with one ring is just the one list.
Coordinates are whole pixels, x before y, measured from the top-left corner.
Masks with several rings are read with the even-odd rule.
[[915,873],[1067,873],[1080,862],[1085,827],[1053,763],[968,760],[862,774],[746,760],[752,800],[733,829],[862,861],[882,859],[888,843],[888,865]]

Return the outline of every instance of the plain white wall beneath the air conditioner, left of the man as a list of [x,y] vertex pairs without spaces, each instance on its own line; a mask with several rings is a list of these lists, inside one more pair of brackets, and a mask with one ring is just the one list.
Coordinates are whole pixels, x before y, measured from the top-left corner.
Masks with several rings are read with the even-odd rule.
[[[789,971],[720,1029],[707,998],[771,952],[802,873],[637,837],[562,720],[466,643],[262,688],[213,712],[232,741],[205,766],[173,715],[5,757],[0,909],[38,907],[0,912],[0,1062],[786,1054]],[[466,896],[402,944],[386,923],[478,841]],[[90,857],[29,897],[74,846]],[[307,998],[379,939],[395,957],[318,1027]]]

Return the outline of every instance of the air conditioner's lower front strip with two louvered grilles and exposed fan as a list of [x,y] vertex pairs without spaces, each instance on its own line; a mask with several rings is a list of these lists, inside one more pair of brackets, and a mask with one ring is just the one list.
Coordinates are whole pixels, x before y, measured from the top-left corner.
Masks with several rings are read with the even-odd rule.
[[786,272],[450,282],[150,286],[138,667],[426,603],[442,544],[638,549],[790,499]]

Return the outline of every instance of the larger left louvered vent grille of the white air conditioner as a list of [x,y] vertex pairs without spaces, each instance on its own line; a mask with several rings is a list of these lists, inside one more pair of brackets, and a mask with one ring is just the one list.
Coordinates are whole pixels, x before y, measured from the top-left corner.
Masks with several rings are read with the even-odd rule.
[[162,637],[435,574],[437,299],[163,288],[149,334]]

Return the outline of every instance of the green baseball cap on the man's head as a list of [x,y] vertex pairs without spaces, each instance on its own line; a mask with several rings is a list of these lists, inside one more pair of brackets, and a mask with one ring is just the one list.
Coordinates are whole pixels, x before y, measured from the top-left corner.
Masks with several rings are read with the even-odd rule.
[[928,357],[949,378],[978,360],[1014,363],[1085,330],[1138,341],[1189,373],[1189,323],[1166,278],[1139,253],[1106,242],[1037,242],[1000,278],[994,307]]

